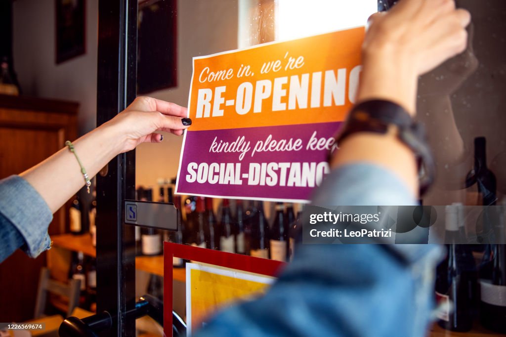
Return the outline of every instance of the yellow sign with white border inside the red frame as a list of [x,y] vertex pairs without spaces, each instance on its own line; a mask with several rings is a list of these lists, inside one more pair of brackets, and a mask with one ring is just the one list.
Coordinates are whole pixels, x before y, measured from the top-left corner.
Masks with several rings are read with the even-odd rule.
[[186,264],[186,332],[191,336],[218,310],[263,294],[275,278],[194,263]]

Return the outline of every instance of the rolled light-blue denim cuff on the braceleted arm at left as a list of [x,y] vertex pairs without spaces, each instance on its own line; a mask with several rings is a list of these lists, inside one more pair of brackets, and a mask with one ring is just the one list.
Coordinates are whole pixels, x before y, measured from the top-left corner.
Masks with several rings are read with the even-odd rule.
[[48,249],[51,245],[48,226],[52,219],[48,204],[26,180],[19,176],[0,180],[0,237],[10,240],[4,248],[0,247],[0,261],[16,245],[32,258]]

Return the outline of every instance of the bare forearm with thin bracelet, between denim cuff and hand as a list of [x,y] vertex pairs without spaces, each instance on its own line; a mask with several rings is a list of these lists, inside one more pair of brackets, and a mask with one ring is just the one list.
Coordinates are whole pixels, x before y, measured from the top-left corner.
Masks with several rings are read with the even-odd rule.
[[[73,142],[90,179],[120,153],[120,135],[104,125]],[[44,198],[54,213],[85,185],[74,154],[65,147],[21,175]]]

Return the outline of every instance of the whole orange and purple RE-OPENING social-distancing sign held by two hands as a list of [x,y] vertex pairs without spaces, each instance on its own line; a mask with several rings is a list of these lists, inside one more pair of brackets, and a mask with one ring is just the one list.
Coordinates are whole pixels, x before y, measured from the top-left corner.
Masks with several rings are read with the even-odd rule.
[[176,193],[307,201],[354,103],[364,28],[193,58]]

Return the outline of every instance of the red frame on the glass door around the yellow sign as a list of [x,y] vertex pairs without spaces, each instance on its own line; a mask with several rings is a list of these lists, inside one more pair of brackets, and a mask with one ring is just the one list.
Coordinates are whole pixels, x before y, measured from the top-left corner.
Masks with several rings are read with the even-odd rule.
[[165,336],[172,336],[173,257],[267,276],[276,276],[285,265],[281,261],[254,258],[187,244],[163,242],[163,332]]

